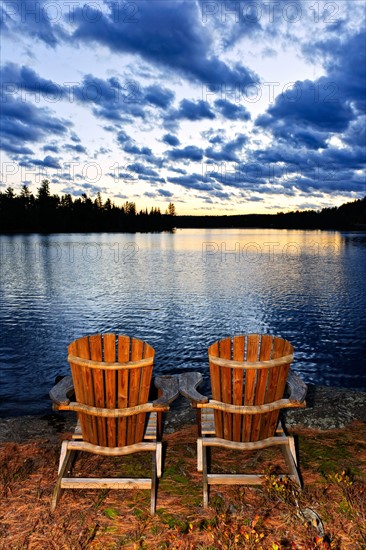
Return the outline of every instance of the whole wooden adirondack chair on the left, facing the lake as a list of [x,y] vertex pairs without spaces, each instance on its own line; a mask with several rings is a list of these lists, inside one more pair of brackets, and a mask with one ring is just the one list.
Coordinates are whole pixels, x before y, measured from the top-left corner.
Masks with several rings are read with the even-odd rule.
[[[72,441],[63,441],[58,479],[51,509],[62,489],[141,488],[151,490],[155,513],[157,478],[161,476],[161,415],[178,395],[172,377],[158,377],[165,392],[148,402],[154,349],[141,340],[115,334],[85,336],[68,347],[72,377],[65,377],[50,392],[56,410],[76,411],[78,424]],[[75,400],[69,397],[74,393]],[[105,456],[152,453],[152,476],[134,478],[69,477],[77,451]]]

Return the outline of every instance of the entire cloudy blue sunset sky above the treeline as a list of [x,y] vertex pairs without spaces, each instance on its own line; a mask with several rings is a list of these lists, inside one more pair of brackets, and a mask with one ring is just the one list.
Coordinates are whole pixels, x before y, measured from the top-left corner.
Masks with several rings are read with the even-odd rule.
[[366,0],[3,0],[1,179],[178,214],[366,195]]

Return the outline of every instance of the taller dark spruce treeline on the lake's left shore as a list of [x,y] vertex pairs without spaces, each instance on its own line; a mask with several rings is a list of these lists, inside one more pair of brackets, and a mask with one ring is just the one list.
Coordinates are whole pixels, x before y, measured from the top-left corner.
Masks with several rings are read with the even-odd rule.
[[43,180],[34,196],[27,185],[16,194],[12,187],[0,192],[0,232],[135,232],[171,230],[175,207],[170,203],[166,213],[159,208],[137,212],[134,202],[121,207],[110,199],[103,202],[100,193],[95,200],[83,194],[73,199],[70,194],[51,195],[50,182]]

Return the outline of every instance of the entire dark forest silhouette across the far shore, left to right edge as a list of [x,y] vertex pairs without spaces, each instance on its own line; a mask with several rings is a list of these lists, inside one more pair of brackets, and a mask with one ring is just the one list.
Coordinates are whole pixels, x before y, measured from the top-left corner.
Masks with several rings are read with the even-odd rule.
[[0,233],[148,232],[174,228],[362,229],[366,230],[366,196],[339,207],[297,210],[277,214],[180,216],[171,202],[160,208],[137,211],[134,202],[116,206],[100,193],[92,200],[85,193],[51,195],[43,180],[34,196],[27,185],[19,194],[8,187],[0,191]]

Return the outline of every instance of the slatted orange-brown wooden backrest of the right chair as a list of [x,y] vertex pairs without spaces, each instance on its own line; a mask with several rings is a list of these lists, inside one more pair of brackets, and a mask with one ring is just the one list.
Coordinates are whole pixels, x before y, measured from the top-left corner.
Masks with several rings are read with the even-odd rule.
[[[268,334],[215,342],[208,348],[212,398],[240,406],[281,399],[292,353],[293,346],[287,340]],[[216,435],[232,441],[260,441],[274,435],[278,416],[279,410],[253,415],[215,410]]]

